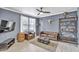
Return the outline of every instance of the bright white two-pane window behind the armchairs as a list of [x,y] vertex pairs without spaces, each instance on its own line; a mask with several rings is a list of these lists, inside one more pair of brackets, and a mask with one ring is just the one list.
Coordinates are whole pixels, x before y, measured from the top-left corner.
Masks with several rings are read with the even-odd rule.
[[21,16],[21,32],[35,32],[35,21],[36,19],[34,18]]

